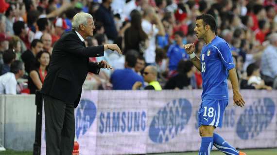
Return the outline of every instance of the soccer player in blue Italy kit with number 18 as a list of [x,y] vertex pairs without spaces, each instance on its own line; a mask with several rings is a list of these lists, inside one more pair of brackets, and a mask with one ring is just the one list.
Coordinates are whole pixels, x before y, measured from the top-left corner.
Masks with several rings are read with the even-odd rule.
[[233,87],[234,105],[243,107],[245,103],[239,92],[230,47],[224,39],[216,36],[216,21],[211,15],[197,16],[194,31],[198,39],[204,39],[206,42],[200,58],[197,58],[194,53],[194,44],[183,46],[195,67],[201,71],[203,78],[202,103],[198,112],[199,134],[202,142],[198,155],[210,155],[212,145],[226,155],[246,155],[214,133],[216,127],[222,126],[223,113],[228,105],[228,76]]

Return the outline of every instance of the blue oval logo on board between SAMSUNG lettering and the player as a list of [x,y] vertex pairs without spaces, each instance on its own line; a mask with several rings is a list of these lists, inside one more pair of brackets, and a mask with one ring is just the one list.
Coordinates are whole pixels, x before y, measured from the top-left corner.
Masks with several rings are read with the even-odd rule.
[[150,124],[150,139],[155,143],[164,143],[176,137],[188,124],[191,110],[191,104],[185,98],[167,103],[158,110]]

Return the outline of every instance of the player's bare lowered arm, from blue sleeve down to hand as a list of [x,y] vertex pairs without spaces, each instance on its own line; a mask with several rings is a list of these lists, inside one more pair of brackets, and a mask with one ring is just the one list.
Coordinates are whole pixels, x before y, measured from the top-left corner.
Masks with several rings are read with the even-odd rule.
[[234,93],[234,104],[243,107],[244,106],[244,100],[242,98],[242,95],[239,91],[239,82],[237,77],[237,71],[236,68],[232,68],[229,70],[229,79],[232,83],[233,87],[233,93]]

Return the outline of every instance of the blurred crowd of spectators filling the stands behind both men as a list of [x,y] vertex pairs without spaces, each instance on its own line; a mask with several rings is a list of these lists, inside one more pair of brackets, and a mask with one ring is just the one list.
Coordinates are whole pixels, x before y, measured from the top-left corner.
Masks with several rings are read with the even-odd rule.
[[95,22],[87,47],[114,43],[124,53],[89,58],[114,69],[89,73],[84,90],[201,89],[201,72],[183,48],[194,43],[200,56],[205,42],[193,29],[201,14],[215,17],[241,89],[277,89],[276,0],[0,0],[0,6],[0,93],[41,89],[55,42],[71,31],[78,12]]

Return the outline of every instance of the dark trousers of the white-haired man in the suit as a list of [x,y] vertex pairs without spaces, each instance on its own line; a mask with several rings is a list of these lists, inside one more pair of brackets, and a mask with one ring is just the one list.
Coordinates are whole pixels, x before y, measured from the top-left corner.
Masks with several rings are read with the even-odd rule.
[[72,155],[75,137],[73,104],[43,95],[46,155]]

